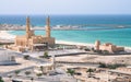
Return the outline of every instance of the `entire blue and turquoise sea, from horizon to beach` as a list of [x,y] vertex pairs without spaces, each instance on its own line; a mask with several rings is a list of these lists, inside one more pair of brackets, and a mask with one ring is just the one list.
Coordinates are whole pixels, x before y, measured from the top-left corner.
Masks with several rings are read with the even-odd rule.
[[[32,26],[45,26],[45,15],[29,15]],[[26,15],[0,15],[0,24],[25,25]],[[95,40],[131,47],[131,15],[50,15],[51,26],[70,25],[94,30],[51,31],[57,40],[94,44]],[[119,26],[122,28],[111,28]],[[95,30],[102,28],[102,30]],[[105,30],[103,30],[105,28]],[[107,28],[107,30],[106,30]],[[111,30],[108,30],[111,28]],[[13,35],[23,35],[25,31],[10,31]],[[35,31],[45,35],[45,31]]]

